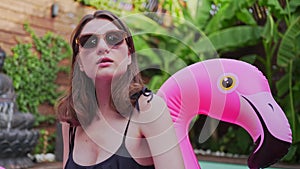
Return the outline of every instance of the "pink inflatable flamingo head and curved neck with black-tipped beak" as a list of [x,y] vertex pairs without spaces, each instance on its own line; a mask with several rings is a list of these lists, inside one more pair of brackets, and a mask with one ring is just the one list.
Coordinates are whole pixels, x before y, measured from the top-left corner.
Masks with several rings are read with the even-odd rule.
[[248,63],[212,59],[193,64],[172,75],[157,94],[169,107],[186,168],[199,168],[188,139],[189,123],[197,114],[237,124],[250,134],[255,142],[251,169],[274,164],[291,145],[288,120],[268,81]]

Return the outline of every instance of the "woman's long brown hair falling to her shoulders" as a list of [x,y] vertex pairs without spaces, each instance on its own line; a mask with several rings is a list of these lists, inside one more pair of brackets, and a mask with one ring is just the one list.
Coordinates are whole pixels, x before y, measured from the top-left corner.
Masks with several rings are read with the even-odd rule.
[[[58,119],[68,122],[73,126],[89,125],[97,116],[98,104],[95,94],[95,87],[90,78],[79,70],[77,55],[79,46],[76,39],[80,35],[83,27],[93,19],[108,19],[119,29],[127,32],[125,38],[131,54],[131,64],[128,65],[126,73],[120,76],[112,84],[111,104],[122,115],[128,115],[136,104],[136,100],[131,100],[130,96],[142,90],[143,82],[139,73],[135,48],[131,33],[127,26],[116,15],[109,11],[98,10],[94,14],[85,15],[72,33],[70,43],[72,45],[73,57],[69,89],[65,96],[59,99],[56,106]],[[74,103],[74,101],[76,103]],[[79,120],[80,119],[80,120]]]

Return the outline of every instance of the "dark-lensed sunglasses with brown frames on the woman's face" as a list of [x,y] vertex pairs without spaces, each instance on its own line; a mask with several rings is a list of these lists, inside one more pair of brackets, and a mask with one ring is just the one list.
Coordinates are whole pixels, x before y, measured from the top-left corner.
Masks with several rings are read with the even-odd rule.
[[121,45],[127,33],[122,30],[108,31],[104,34],[83,34],[76,39],[76,43],[86,49],[94,48],[98,45],[100,38],[103,38],[108,47]]

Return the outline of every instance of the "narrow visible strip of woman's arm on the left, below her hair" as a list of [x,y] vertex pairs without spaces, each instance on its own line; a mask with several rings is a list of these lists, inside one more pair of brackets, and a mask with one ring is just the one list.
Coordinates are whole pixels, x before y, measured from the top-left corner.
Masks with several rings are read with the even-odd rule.
[[66,162],[69,156],[69,128],[68,123],[62,122],[62,137],[63,137],[63,168],[65,168]]

